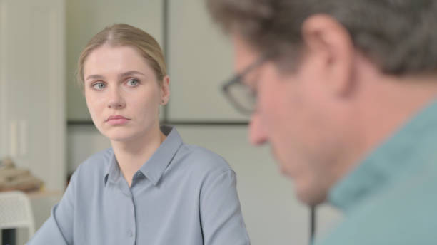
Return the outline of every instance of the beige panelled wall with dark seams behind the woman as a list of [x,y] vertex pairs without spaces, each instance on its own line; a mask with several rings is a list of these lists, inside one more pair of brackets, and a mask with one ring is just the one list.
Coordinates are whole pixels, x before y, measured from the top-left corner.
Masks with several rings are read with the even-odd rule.
[[[248,145],[248,118],[220,93],[221,83],[233,74],[232,47],[211,23],[202,0],[67,0],[66,6],[69,172],[110,146],[90,123],[84,98],[73,83],[81,48],[104,26],[131,24],[166,48],[171,99],[162,119],[175,125],[185,142],[217,152],[235,170],[252,244],[308,244],[309,208],[297,201],[292,183],[278,173],[268,146]],[[317,214],[321,233],[339,217],[329,207]]]

